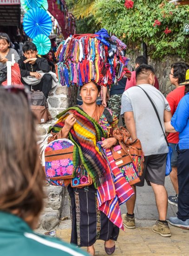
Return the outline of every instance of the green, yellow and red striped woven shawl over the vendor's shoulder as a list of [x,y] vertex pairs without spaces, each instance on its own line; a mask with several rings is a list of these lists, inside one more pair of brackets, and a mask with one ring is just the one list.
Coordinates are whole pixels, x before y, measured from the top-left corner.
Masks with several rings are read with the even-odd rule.
[[76,169],[82,162],[91,176],[95,188],[98,188],[106,180],[106,163],[97,147],[97,141],[101,141],[102,137],[106,138],[106,133],[97,121],[78,107],[68,108],[60,113],[57,116],[59,120],[49,128],[49,133],[58,133],[64,127],[65,119],[70,114],[77,119],[68,134],[69,139],[75,145],[73,164]]

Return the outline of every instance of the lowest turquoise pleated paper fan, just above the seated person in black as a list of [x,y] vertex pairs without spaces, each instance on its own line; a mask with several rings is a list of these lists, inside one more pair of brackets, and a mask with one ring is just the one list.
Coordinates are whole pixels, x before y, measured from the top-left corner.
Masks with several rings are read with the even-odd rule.
[[33,43],[36,45],[38,54],[45,55],[51,49],[51,40],[44,34],[39,34],[33,38]]

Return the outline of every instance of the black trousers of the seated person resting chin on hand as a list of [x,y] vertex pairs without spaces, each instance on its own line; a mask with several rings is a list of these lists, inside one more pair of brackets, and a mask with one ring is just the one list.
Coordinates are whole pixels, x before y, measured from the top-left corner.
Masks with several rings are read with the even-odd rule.
[[[22,83],[25,84],[25,85],[28,85],[23,80],[22,80]],[[44,95],[46,96],[46,99],[47,99],[48,95],[49,95],[49,92],[52,88],[52,75],[51,74],[44,74],[41,81],[39,82],[39,84],[34,85],[32,88],[33,88],[34,91],[43,92]]]

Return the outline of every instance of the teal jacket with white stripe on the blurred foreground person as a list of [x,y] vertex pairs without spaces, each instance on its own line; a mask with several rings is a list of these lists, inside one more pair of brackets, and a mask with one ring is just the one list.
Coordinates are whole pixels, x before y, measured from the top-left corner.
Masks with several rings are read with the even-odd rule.
[[18,216],[0,211],[0,256],[87,256],[75,246],[35,234]]

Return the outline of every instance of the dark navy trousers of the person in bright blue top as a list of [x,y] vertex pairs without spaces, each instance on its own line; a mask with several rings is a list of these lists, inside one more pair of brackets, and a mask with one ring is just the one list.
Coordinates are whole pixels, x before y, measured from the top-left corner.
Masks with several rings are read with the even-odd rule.
[[186,221],[189,219],[189,149],[179,149],[177,162],[178,176],[178,212],[177,217]]

